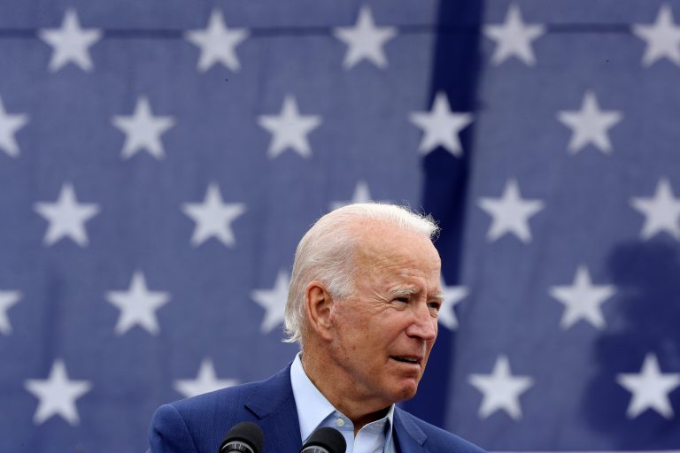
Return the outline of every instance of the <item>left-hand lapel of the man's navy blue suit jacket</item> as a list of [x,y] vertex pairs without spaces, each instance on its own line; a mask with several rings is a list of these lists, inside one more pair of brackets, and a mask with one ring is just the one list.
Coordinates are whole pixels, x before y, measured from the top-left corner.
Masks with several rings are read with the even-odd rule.
[[302,447],[298,409],[290,386],[290,365],[253,388],[245,407],[265,433],[264,453],[296,452]]

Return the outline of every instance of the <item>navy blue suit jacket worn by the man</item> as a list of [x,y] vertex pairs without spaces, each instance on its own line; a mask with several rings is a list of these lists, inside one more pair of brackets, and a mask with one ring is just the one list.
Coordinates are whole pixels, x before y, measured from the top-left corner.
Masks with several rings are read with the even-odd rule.
[[[194,396],[158,408],[151,420],[152,453],[218,453],[236,423],[251,421],[265,433],[264,453],[297,453],[302,447],[290,366],[268,380]],[[395,408],[400,453],[483,453],[483,449]]]

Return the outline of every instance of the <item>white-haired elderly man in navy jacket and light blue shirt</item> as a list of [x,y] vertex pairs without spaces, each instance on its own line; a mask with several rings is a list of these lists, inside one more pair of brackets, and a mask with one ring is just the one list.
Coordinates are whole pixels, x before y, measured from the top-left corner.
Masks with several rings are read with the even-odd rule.
[[295,453],[319,426],[347,451],[482,453],[395,407],[415,395],[442,304],[437,226],[388,204],[352,204],[319,219],[295,256],[286,304],[290,367],[261,382],[161,406],[151,451],[215,453],[241,421],[264,450]]

